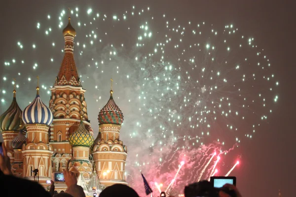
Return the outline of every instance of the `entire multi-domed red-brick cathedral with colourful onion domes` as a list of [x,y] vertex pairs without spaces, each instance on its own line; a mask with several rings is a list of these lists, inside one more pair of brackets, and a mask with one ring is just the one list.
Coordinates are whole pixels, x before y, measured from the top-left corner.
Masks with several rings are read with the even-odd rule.
[[[127,147],[119,139],[123,114],[110,99],[98,115],[99,134],[94,139],[87,115],[87,104],[74,61],[76,32],[70,23],[63,30],[64,59],[50,89],[49,106],[40,96],[22,111],[16,90],[9,108],[0,116],[0,131],[15,176],[38,181],[46,180],[65,169],[73,171],[86,196],[125,181]],[[111,82],[112,83],[112,82]],[[55,182],[55,190],[65,191],[64,182]]]

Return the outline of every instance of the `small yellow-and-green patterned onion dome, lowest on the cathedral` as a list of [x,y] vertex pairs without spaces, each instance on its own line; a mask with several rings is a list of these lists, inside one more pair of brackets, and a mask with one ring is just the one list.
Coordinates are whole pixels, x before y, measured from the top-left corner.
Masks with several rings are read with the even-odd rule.
[[70,135],[69,142],[72,146],[91,147],[93,145],[94,137],[85,129],[82,119],[77,130]]

